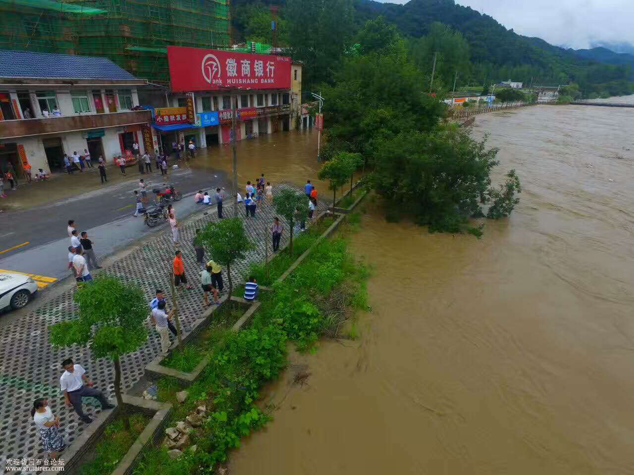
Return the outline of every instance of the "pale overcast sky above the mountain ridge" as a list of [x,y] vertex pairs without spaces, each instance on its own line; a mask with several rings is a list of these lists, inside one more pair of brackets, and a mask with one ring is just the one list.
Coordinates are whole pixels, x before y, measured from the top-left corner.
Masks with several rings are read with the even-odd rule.
[[[384,1],[384,0],[378,0]],[[389,3],[407,3],[391,0]],[[590,42],[634,44],[634,0],[456,0],[516,33],[576,49]]]

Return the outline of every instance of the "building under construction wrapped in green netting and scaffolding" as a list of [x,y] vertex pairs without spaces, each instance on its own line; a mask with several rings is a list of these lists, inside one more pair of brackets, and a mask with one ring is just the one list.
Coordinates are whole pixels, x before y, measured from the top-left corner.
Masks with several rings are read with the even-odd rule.
[[0,0],[0,49],[105,56],[136,77],[167,83],[167,46],[230,45],[229,3]]

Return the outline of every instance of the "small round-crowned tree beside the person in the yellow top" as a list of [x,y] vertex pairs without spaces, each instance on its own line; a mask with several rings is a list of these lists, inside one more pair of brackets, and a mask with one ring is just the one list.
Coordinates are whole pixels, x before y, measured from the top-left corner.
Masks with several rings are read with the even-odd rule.
[[255,246],[247,236],[240,218],[226,218],[217,223],[209,223],[198,233],[196,242],[205,248],[220,265],[227,268],[229,298],[233,293],[231,265],[236,260],[247,257],[247,252]]

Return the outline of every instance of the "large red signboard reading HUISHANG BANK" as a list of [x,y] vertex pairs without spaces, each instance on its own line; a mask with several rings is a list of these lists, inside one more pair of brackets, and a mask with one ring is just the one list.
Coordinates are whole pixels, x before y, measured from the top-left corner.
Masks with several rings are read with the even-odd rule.
[[286,56],[168,46],[167,61],[176,92],[290,89],[291,60]]

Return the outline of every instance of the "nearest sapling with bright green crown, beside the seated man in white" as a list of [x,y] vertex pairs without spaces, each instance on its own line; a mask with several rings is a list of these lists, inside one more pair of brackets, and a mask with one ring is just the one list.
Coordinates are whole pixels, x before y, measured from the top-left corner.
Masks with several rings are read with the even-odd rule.
[[112,360],[115,396],[124,427],[129,431],[130,420],[121,397],[120,357],[138,350],[148,338],[148,306],[143,291],[116,277],[100,276],[77,289],[73,300],[79,316],[51,326],[51,344],[89,346],[95,358]]

